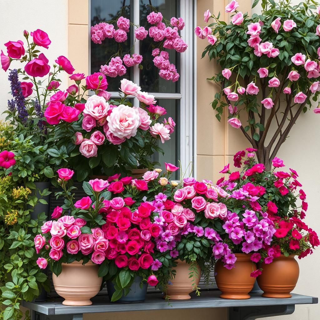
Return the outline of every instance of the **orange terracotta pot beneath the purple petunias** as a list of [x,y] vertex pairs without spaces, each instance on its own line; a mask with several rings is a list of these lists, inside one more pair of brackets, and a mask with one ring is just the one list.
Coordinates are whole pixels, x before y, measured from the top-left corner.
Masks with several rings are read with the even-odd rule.
[[248,294],[256,278],[250,276],[252,271],[257,270],[257,266],[250,260],[250,254],[235,253],[235,268],[228,270],[221,260],[214,266],[214,274],[218,289],[222,292],[220,298],[223,299],[250,299]]

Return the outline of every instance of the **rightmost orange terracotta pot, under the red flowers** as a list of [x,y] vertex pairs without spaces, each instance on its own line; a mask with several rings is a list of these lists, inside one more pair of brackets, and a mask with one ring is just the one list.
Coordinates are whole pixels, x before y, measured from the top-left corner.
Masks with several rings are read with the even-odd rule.
[[262,274],[258,276],[259,287],[264,292],[262,297],[291,298],[290,292],[294,289],[299,278],[299,265],[294,255],[274,259],[270,264],[261,264]]

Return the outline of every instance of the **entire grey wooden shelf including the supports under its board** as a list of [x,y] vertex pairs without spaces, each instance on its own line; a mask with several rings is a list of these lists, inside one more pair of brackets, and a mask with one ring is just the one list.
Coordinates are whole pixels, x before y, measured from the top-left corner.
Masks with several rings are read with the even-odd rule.
[[[192,295],[190,300],[171,300],[170,305],[162,299],[161,293],[148,293],[146,300],[141,303],[111,303],[107,296],[97,296],[92,299],[91,306],[85,307],[64,306],[61,303],[62,299],[51,299],[47,302],[24,301],[23,306],[32,310],[34,320],[81,320],[85,313],[188,308],[228,308],[229,320],[253,320],[264,316],[291,314],[296,304],[318,303],[318,298],[295,293],[289,299],[263,298],[260,293],[254,293],[248,300],[227,300],[220,299],[219,295],[220,291],[218,290],[203,290],[200,297]],[[58,315],[60,316],[56,317]],[[62,315],[69,316],[61,317]]]

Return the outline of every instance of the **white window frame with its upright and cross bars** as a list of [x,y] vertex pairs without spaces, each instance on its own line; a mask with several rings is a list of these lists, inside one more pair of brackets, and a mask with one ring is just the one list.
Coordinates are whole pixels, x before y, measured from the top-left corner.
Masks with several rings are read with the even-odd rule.
[[[155,96],[155,99],[175,99],[180,100],[180,123],[177,126],[179,129],[179,141],[180,141],[180,162],[182,171],[186,171],[190,162],[193,162],[193,176],[196,177],[196,156],[195,152],[195,105],[194,100],[194,1],[193,0],[180,0],[180,17],[185,21],[186,26],[181,31],[183,40],[188,44],[188,49],[180,54],[180,93],[162,93],[162,92],[149,92]],[[133,23],[140,24],[140,1],[133,0]],[[90,36],[90,24],[91,24],[91,0],[89,0],[89,74],[91,71],[91,36]],[[134,53],[139,53],[140,45],[139,40],[135,40]],[[140,83],[140,69],[136,65],[133,68],[133,82]],[[156,67],[155,67],[156,68]],[[112,97],[119,97],[119,92],[110,92]],[[134,105],[139,105],[139,100],[134,96],[128,96],[128,98],[134,99]],[[187,174],[190,172],[190,166]]]

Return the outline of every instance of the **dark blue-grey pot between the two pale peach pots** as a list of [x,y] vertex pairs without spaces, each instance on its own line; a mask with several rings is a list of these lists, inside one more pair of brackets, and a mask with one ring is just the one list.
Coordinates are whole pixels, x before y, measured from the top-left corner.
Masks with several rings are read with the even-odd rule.
[[[119,303],[143,302],[146,299],[148,283],[143,282],[142,288],[140,288],[141,281],[142,281],[141,277],[135,277],[134,282],[130,287],[130,292],[126,296],[123,293],[123,296],[115,302],[119,302]],[[109,299],[111,301],[111,297],[113,293],[116,291],[114,284],[112,283],[111,280],[107,281],[107,290],[108,290]]]

